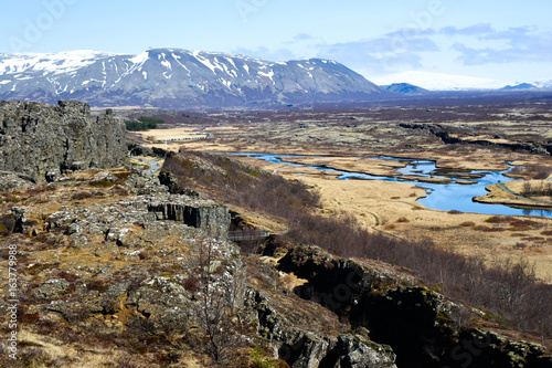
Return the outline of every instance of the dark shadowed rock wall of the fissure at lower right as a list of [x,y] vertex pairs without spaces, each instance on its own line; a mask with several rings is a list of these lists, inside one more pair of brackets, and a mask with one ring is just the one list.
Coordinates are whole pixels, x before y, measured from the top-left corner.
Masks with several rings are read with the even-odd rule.
[[[540,345],[460,326],[455,304],[442,294],[407,286],[415,284],[407,274],[367,262],[299,245],[284,255],[279,270],[308,280],[295,288],[299,296],[333,311],[351,326],[367,328],[371,340],[390,345],[399,367],[544,367],[550,361]],[[353,341],[341,337],[338,347],[351,350]]]

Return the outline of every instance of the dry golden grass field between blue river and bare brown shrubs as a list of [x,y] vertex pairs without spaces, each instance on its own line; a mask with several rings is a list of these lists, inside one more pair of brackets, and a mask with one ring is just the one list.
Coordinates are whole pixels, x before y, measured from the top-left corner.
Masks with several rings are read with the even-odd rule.
[[[322,213],[336,215],[346,210],[365,228],[410,240],[429,238],[440,246],[488,262],[526,257],[535,263],[539,277],[552,281],[552,236],[542,234],[546,229],[552,230],[552,219],[532,218],[533,225],[506,228],[486,222],[491,218],[489,214],[427,209],[416,202],[425,196],[424,190],[412,185],[300,178],[320,191]],[[523,217],[514,218],[523,221]]]

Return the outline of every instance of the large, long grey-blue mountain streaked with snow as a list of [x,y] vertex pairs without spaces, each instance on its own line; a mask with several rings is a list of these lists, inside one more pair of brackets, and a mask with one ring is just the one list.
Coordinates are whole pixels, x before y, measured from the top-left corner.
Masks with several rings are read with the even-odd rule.
[[0,99],[219,107],[367,99],[383,90],[329,60],[267,62],[174,49],[0,54]]

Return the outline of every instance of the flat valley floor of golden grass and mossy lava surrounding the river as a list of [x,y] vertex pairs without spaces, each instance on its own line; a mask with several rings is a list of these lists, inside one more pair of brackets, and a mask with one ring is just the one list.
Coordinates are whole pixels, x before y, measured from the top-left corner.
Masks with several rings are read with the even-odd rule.
[[[384,155],[431,159],[436,161],[438,168],[455,170],[503,170],[507,168],[505,164],[509,162],[520,168],[541,167],[548,170],[548,176],[551,177],[552,159],[542,148],[546,147],[546,139],[552,138],[550,115],[541,114],[539,116],[542,120],[539,120],[531,118],[530,108],[496,107],[490,108],[490,112],[486,111],[485,114],[477,107],[471,109],[466,107],[466,109],[471,113],[450,108],[456,115],[455,118],[448,117],[449,122],[433,123],[429,119],[414,128],[401,123],[404,116],[408,116],[407,108],[251,113],[244,116],[213,115],[211,117],[213,122],[219,119],[217,124],[181,126],[181,129],[187,132],[210,133],[212,139],[172,143],[167,147],[174,151],[185,149],[332,156],[330,162],[332,168],[382,176],[393,175],[394,168],[389,161],[359,157]],[[539,112],[535,111],[534,114]],[[394,113],[396,114],[393,115]],[[416,114],[422,114],[420,108],[412,108],[410,113],[414,117]],[[438,117],[432,119],[438,122]],[[180,134],[178,129],[166,132]],[[439,134],[443,136],[443,132],[458,141],[456,144],[443,141],[436,136]],[[146,132],[139,136],[146,143],[148,136],[159,136],[159,132]],[[532,145],[539,139],[542,146],[535,146],[533,151],[519,148],[528,148],[529,146],[523,145]],[[166,147],[164,143],[157,146]],[[524,259],[534,262],[540,278],[552,280],[551,218],[498,219],[489,214],[437,211],[416,202],[425,196],[425,192],[412,185],[336,180],[335,175],[320,174],[314,169],[294,168],[246,157],[240,159],[270,172],[278,172],[286,178],[299,178],[309,183],[320,191],[323,203],[320,211],[328,215],[346,211],[372,231],[405,239],[431,239],[443,248],[482,257],[490,263],[506,262],[507,259]],[[316,162],[320,159],[312,157],[302,159],[305,160]],[[298,172],[302,175],[297,176]],[[521,172],[519,177],[523,175],[527,179],[531,177],[531,172]],[[503,194],[493,196],[486,200],[509,204],[532,203],[513,196],[509,197],[505,200]],[[545,198],[540,200],[546,201]]]

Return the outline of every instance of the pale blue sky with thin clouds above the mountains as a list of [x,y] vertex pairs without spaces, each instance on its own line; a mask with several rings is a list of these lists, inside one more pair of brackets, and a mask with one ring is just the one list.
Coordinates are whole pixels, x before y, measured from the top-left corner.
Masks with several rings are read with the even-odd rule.
[[25,0],[0,6],[0,53],[174,48],[268,61],[552,80],[550,0]]

